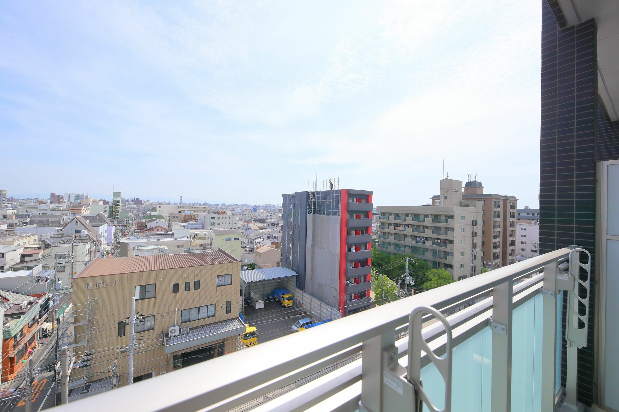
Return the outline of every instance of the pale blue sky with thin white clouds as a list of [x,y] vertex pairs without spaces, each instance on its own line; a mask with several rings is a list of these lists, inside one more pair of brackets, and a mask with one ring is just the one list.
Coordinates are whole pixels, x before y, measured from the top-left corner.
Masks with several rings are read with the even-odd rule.
[[2,2],[0,187],[277,203],[316,179],[537,206],[539,2]]

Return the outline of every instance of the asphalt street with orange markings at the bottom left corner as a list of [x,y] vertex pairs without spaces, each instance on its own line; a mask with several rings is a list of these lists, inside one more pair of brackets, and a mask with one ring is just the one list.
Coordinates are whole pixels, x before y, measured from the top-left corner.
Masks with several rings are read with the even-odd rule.
[[[54,351],[51,351],[48,356],[40,363],[46,365],[54,361]],[[35,376],[34,382],[30,390],[27,392],[25,388],[17,389],[11,397],[0,400],[0,412],[25,412],[26,403],[25,395],[30,395],[30,411],[38,412],[40,410],[51,408],[54,406],[56,391],[54,382],[54,372],[43,372]]]

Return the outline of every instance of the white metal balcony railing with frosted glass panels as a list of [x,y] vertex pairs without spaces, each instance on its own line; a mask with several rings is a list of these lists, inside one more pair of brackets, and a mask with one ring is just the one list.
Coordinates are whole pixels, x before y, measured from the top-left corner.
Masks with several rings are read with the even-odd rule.
[[[589,264],[578,263],[586,256]],[[436,410],[551,411],[563,395],[575,405],[576,348],[586,341],[588,312],[568,306],[561,327],[561,293],[588,291],[590,262],[582,249],[560,249],[65,408],[412,411],[427,396]],[[577,299],[587,306],[582,296],[568,301]],[[584,328],[571,327],[576,317]]]

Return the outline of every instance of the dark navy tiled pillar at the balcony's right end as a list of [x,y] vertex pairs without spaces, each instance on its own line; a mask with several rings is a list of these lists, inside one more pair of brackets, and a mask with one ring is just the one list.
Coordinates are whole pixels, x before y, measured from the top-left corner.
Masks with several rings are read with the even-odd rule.
[[[593,255],[596,28],[593,20],[560,28],[565,19],[557,7],[556,1],[542,0],[540,249],[550,252],[578,244]],[[594,387],[590,313],[589,342],[578,352],[578,400],[586,405],[591,405]],[[565,358],[563,362],[565,379]]]

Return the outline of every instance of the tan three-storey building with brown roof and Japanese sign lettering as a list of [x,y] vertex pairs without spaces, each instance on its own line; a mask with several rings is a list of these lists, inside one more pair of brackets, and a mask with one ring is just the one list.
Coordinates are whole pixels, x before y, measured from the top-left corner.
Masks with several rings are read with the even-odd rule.
[[95,260],[73,280],[74,353],[92,353],[92,361],[71,379],[100,379],[116,360],[119,384],[127,383],[132,298],[143,316],[134,382],[236,351],[245,331],[240,272],[241,262],[221,249]]

